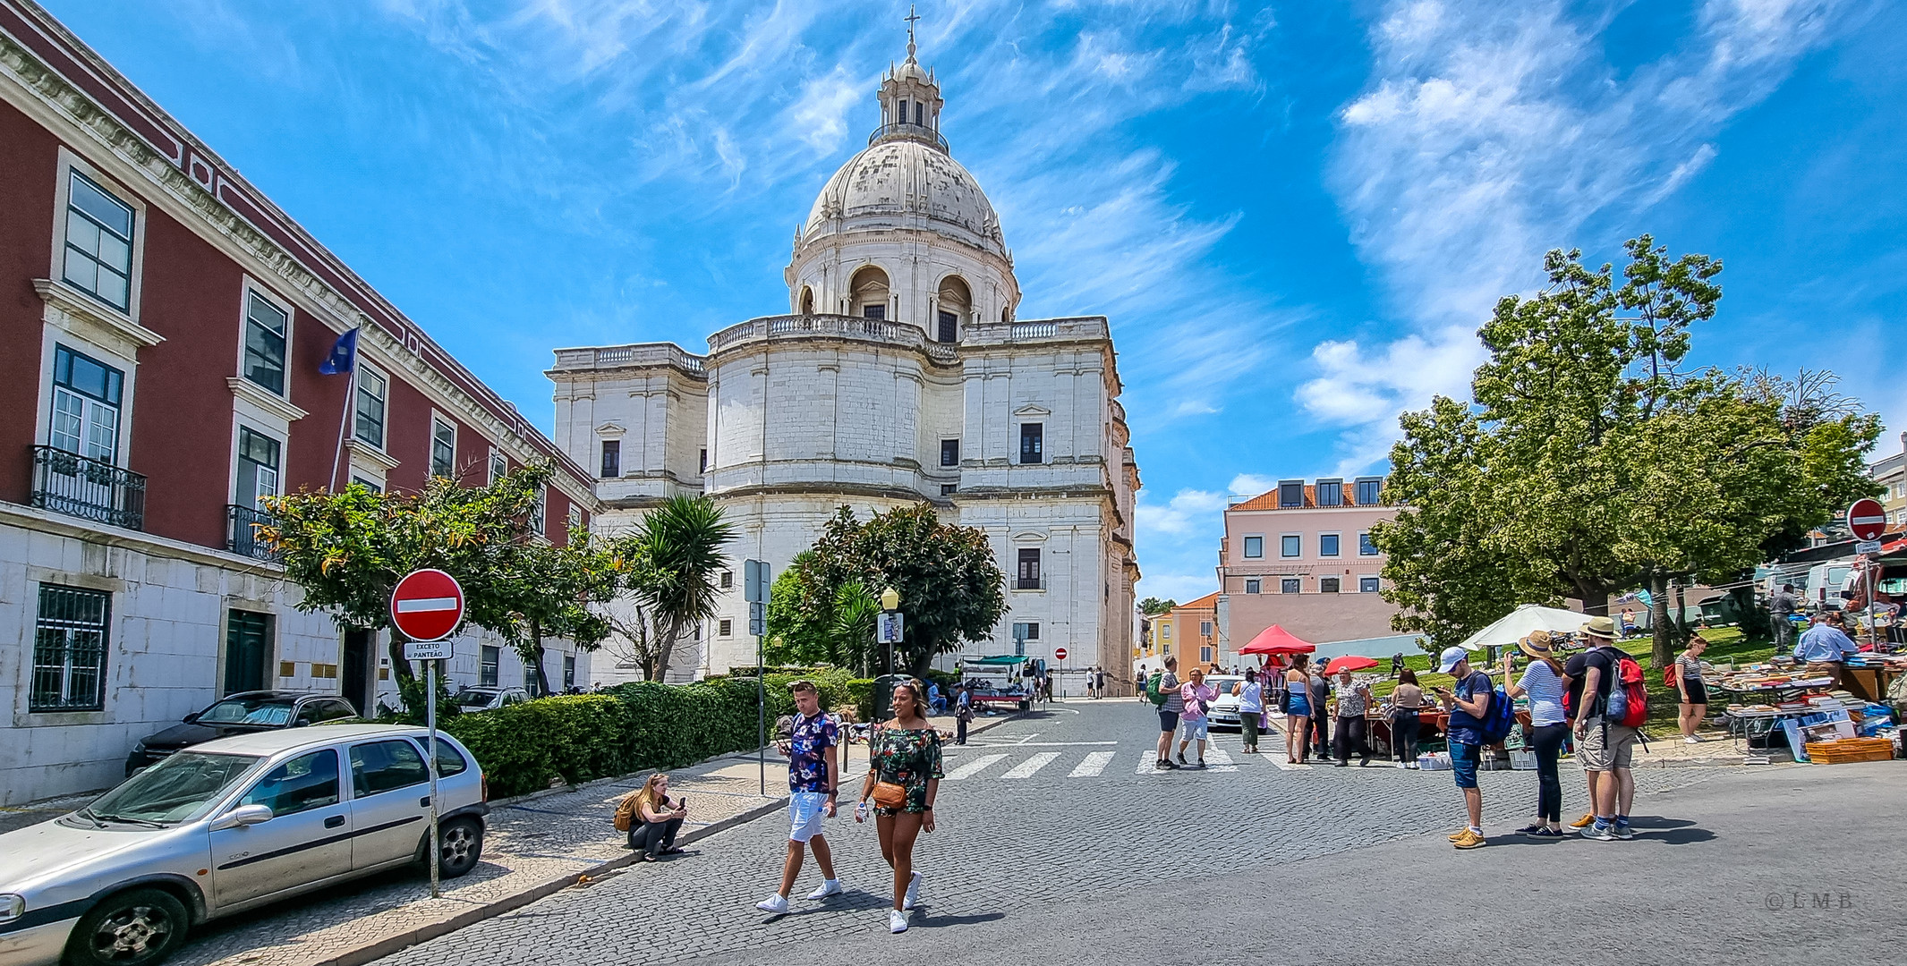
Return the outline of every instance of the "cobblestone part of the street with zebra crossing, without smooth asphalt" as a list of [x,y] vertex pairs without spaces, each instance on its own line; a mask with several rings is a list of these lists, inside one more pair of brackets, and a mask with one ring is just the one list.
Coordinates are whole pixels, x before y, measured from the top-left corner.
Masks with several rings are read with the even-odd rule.
[[[1459,802],[1447,772],[1394,768],[1283,770],[1283,756],[1238,755],[1238,737],[1222,735],[1205,772],[1154,772],[1156,716],[1135,701],[1068,701],[1007,722],[978,735],[973,745],[948,751],[942,785],[940,829],[917,846],[925,873],[925,903],[906,937],[885,932],[887,867],[879,859],[873,827],[851,817],[830,823],[839,875],[849,896],[805,903],[799,896],[818,882],[812,861],[795,890],[795,913],[769,916],[753,903],[776,880],[786,842],[780,815],[707,838],[675,861],[633,867],[584,888],[564,890],[517,913],[399,953],[393,966],[463,962],[545,962],[555,949],[566,962],[627,962],[631,958],[679,962],[711,956],[746,962],[812,960],[812,943],[959,945],[978,955],[1005,943],[999,962],[1024,962],[1011,949],[1028,930],[1037,936],[1089,936],[1068,916],[1098,909],[1097,928],[1125,936],[1127,913],[1163,920],[1198,922],[1220,903],[1200,897],[1213,882],[1238,880],[1245,894],[1278,894],[1280,869],[1331,869],[1302,863],[1350,850],[1390,846],[1423,850],[1421,886],[1392,882],[1375,859],[1356,859],[1354,896],[1335,899],[1318,890],[1310,915],[1327,920],[1350,916],[1377,920],[1400,892],[1434,897],[1440,876],[1486,867],[1493,876],[1516,878],[1516,863],[1531,848],[1507,835],[1528,821],[1535,800],[1535,774],[1484,774],[1486,819],[1491,844],[1478,854],[1455,854],[1428,833],[1457,827]],[[1266,747],[1274,747],[1268,743]],[[1800,774],[1814,781],[1821,772],[1794,768],[1672,768],[1638,770],[1636,815],[1665,815],[1686,789],[1718,777],[1751,785],[1787,785]],[[1823,777],[1827,777],[1823,774]],[[1566,815],[1581,814],[1581,772],[1566,766]],[[847,814],[847,810],[843,810]],[[1644,835],[1632,848],[1663,863],[1661,844],[1711,848],[1716,836],[1686,819],[1642,821]],[[1613,848],[1579,840],[1556,842],[1571,850]],[[1383,850],[1379,850],[1383,852]],[[1413,855],[1417,852],[1411,852]],[[1478,857],[1482,855],[1482,857]],[[1560,855],[1560,854],[1558,854]],[[1610,854],[1602,857],[1608,859]],[[1667,859],[1686,865],[1676,854]],[[1297,863],[1297,865],[1293,865]],[[1663,865],[1661,875],[1674,875]],[[1703,867],[1707,865],[1701,863]],[[1350,869],[1344,869],[1350,875]],[[1282,873],[1280,873],[1282,875]],[[1306,873],[1312,875],[1312,873]],[[1264,882],[1253,878],[1262,876]],[[1356,913],[1346,913],[1346,911]],[[1121,913],[1123,911],[1123,913]],[[950,930],[961,926],[961,930]],[[1224,920],[1211,928],[1230,928]],[[969,930],[971,928],[971,930]],[[982,939],[988,937],[990,939]],[[1184,939],[1192,939],[1188,934]],[[805,953],[801,951],[805,949]],[[900,949],[900,947],[894,947]],[[1056,947],[1062,960],[1093,958],[1087,939]],[[1020,947],[1020,953],[1034,949]],[[1308,956],[1302,956],[1308,960]],[[1196,960],[1173,955],[1163,960]]]

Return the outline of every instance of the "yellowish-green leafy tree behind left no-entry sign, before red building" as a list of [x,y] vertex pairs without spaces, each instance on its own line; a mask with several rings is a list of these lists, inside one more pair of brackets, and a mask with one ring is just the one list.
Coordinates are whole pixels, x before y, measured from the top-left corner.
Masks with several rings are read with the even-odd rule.
[[551,473],[530,465],[481,488],[433,476],[418,493],[351,484],[339,493],[269,497],[273,522],[257,535],[282,560],[286,579],[303,589],[297,610],[328,610],[341,627],[391,631],[391,667],[404,690],[414,673],[404,634],[391,627],[397,581],[412,570],[442,570],[463,587],[465,621],[509,636],[521,619],[519,562],[532,541],[530,507]]

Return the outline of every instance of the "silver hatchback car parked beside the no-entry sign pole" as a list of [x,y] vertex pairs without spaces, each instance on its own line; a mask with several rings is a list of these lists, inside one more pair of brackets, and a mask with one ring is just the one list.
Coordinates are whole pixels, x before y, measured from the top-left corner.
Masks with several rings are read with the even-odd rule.
[[[210,918],[429,855],[423,728],[336,724],[177,751],[0,835],[0,966],[147,966]],[[439,869],[482,854],[477,758],[437,735]]]

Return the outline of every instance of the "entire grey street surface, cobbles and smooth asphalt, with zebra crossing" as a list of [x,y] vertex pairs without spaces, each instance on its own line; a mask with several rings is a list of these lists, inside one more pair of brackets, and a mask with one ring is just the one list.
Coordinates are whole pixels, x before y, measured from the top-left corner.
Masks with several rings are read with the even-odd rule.
[[[1508,835],[1535,777],[1491,772],[1491,844],[1457,852],[1436,835],[1461,823],[1447,772],[1282,770],[1226,735],[1230,770],[1140,774],[1154,720],[1070,701],[950,749],[965,777],[921,838],[906,936],[887,934],[887,867],[852,819],[828,831],[849,896],[801,901],[810,863],[795,913],[755,911],[786,842],[769,817],[383,962],[1819,964],[1892,962],[1907,924],[1899,762],[1638,772],[1632,842]],[[1581,774],[1564,779],[1579,812]]]

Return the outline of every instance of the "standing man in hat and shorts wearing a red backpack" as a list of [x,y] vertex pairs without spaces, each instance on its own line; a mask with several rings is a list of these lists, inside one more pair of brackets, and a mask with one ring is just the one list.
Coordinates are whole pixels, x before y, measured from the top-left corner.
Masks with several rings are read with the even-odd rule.
[[[1592,812],[1575,823],[1583,838],[1613,842],[1634,838],[1629,827],[1629,808],[1636,798],[1636,777],[1629,770],[1642,718],[1642,669],[1636,659],[1615,648],[1615,621],[1590,617],[1583,625],[1592,648],[1569,657],[1564,676],[1569,678],[1569,718],[1575,728],[1575,760],[1589,775]],[[1630,680],[1634,678],[1634,680]]]

